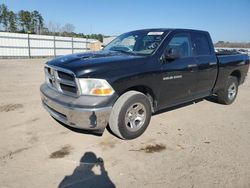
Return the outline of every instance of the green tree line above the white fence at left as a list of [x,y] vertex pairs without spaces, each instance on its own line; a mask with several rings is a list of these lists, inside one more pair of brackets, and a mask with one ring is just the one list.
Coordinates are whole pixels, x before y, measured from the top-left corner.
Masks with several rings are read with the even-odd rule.
[[83,33],[75,33],[74,30],[75,26],[70,23],[66,23],[63,26],[59,23],[52,22],[45,24],[42,14],[37,10],[20,10],[15,13],[12,10],[9,10],[5,4],[0,4],[0,31],[82,37],[97,39],[103,42],[104,36],[102,34],[86,35]]

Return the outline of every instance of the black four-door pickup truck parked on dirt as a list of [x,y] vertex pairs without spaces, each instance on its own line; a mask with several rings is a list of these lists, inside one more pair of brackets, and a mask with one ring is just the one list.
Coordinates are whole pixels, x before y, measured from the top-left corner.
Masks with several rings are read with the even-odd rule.
[[140,136],[159,110],[215,95],[231,104],[249,57],[215,54],[206,31],[144,29],[118,36],[102,51],[55,58],[41,85],[45,109],[66,126],[122,139]]

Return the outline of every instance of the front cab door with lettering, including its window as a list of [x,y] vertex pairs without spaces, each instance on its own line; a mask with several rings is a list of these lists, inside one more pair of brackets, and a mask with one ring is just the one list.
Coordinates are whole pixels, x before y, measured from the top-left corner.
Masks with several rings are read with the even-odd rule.
[[[176,57],[171,57],[173,52]],[[197,84],[198,65],[193,57],[189,33],[175,34],[165,47],[163,56],[159,108],[192,99]]]

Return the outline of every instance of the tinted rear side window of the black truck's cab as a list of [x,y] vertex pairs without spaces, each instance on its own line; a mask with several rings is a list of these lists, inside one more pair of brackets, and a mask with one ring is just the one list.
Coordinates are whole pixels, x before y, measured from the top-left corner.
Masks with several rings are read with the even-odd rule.
[[207,36],[200,33],[194,34],[194,47],[195,55],[210,55],[210,44],[207,40]]

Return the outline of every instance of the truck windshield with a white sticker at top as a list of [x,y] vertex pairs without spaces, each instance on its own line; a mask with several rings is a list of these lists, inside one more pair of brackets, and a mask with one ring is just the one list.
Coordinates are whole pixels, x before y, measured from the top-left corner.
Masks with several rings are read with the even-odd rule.
[[132,31],[118,36],[104,50],[150,55],[157,49],[165,35],[163,31]]

